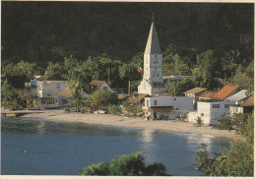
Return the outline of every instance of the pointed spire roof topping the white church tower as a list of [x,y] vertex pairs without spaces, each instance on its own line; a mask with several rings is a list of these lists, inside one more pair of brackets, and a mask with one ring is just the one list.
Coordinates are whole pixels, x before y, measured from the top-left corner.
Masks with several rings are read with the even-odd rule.
[[152,23],[148,42],[146,45],[145,52],[147,54],[161,54],[160,51],[160,40],[159,36],[155,27],[155,23]]

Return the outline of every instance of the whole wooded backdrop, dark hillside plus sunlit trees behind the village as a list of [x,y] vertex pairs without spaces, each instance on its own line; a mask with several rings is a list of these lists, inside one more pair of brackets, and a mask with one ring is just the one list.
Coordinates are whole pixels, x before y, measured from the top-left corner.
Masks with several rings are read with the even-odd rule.
[[[23,89],[34,75],[59,75],[90,91],[92,80],[137,90],[155,13],[170,95],[218,90],[215,78],[253,90],[253,4],[3,2],[2,85]],[[108,78],[109,77],[109,78]],[[7,82],[8,81],[8,82]],[[7,88],[7,91],[10,91]]]

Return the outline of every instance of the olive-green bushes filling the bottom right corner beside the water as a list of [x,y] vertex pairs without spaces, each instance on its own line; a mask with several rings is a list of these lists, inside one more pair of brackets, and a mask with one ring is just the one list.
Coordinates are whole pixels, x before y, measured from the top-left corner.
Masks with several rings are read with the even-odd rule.
[[245,140],[232,142],[231,149],[209,157],[206,146],[197,153],[198,170],[210,176],[253,176],[254,171],[254,114],[239,114],[234,123]]

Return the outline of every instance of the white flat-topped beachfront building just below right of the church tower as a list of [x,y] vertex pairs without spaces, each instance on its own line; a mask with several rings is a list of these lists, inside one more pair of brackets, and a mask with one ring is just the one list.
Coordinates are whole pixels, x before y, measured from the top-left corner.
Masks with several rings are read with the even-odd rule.
[[145,97],[145,116],[155,119],[175,119],[193,110],[193,98],[185,96]]

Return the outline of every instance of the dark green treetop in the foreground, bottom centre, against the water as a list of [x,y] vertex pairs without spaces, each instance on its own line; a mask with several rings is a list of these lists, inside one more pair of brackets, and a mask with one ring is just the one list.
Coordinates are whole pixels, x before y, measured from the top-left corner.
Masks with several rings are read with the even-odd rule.
[[165,166],[161,163],[146,165],[141,152],[120,155],[110,163],[89,165],[79,175],[111,175],[111,176],[167,176]]

